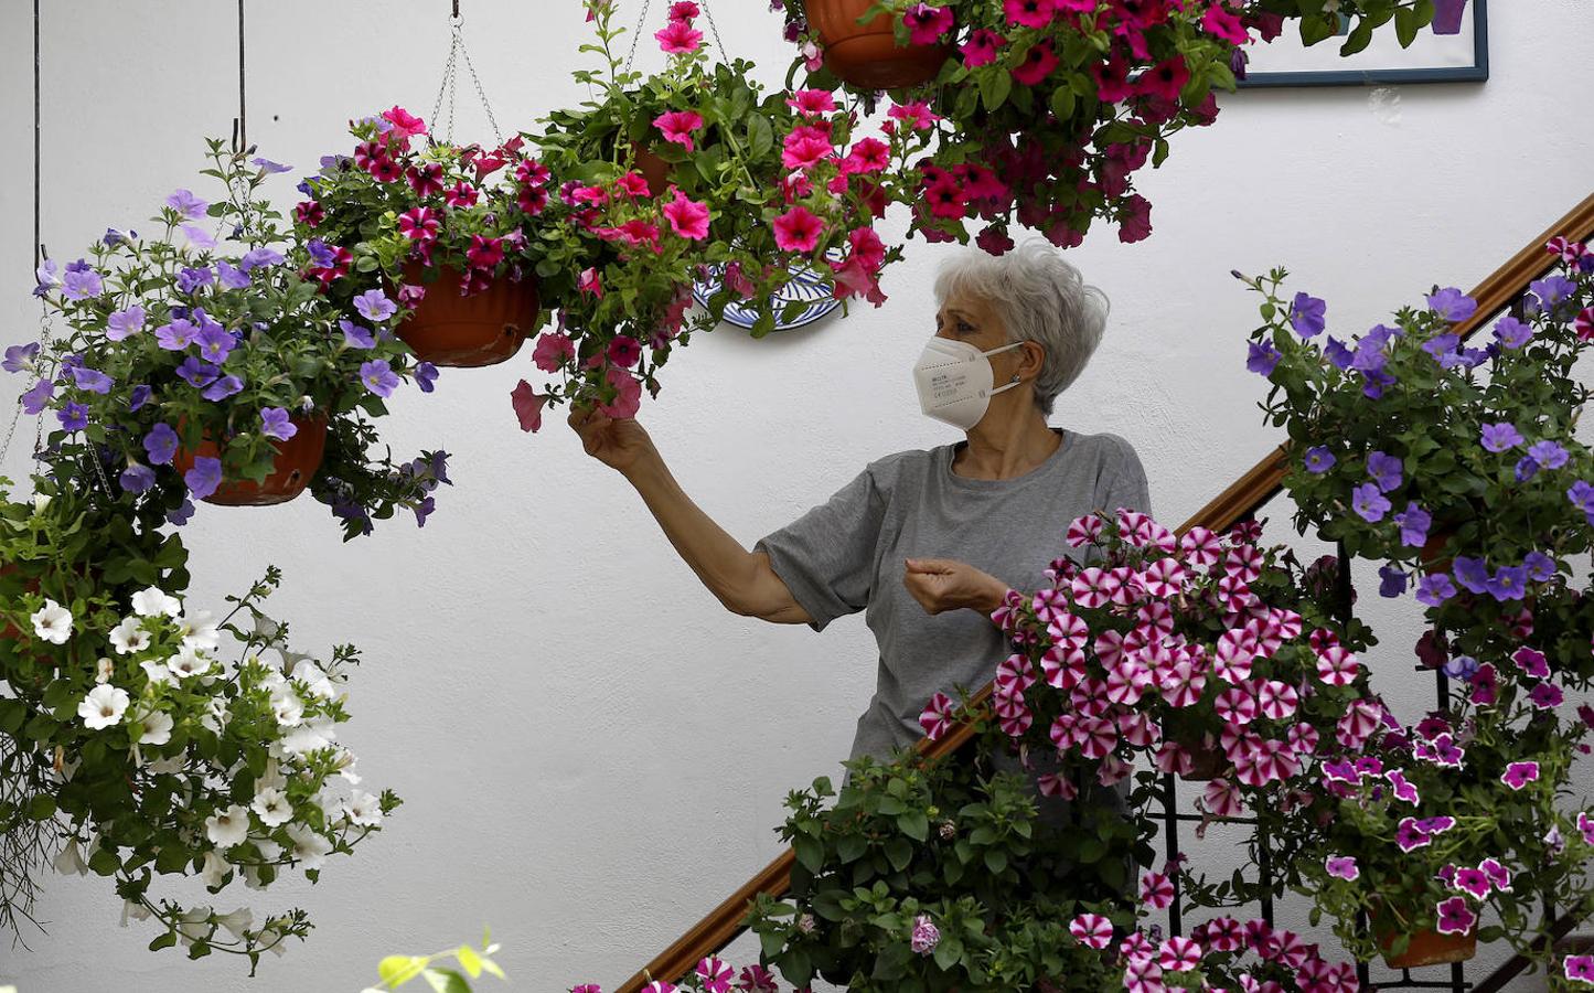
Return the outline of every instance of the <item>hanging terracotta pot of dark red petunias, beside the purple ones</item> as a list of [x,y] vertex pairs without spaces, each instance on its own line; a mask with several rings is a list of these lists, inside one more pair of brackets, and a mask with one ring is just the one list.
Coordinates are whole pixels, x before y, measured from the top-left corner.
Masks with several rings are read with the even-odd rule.
[[394,293],[395,332],[434,365],[504,362],[540,324],[529,252],[552,179],[523,155],[437,142],[402,107],[352,121],[354,155],[328,156],[301,183],[295,234],[309,271],[354,316],[368,292]]

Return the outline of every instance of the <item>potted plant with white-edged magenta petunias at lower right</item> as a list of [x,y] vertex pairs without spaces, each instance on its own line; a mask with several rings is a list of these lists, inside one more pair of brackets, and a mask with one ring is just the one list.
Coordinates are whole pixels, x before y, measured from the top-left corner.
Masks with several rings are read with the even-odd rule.
[[[1588,724],[1557,712],[1553,681],[1471,671],[1463,703],[1380,727],[1360,759],[1325,765],[1298,814],[1261,811],[1275,832],[1315,824],[1290,873],[1315,902],[1312,923],[1328,915],[1358,958],[1438,964],[1503,939],[1549,966],[1546,902],[1594,912],[1594,813],[1567,805]],[[1481,923],[1486,912],[1498,923]]]

